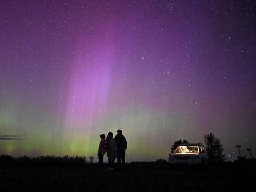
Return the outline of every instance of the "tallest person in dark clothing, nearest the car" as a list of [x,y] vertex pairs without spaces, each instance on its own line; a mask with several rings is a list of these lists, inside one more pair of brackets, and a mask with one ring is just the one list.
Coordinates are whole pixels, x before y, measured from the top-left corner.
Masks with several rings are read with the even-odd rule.
[[117,130],[117,135],[114,138],[117,143],[117,163],[120,165],[122,160],[122,165],[125,165],[125,150],[127,149],[127,141],[122,130]]

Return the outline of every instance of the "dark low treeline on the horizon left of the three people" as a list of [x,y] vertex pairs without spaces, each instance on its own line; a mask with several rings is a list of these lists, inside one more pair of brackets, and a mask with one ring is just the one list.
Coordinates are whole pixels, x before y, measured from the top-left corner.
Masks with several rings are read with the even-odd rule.
[[[90,158],[91,160],[91,158]],[[14,166],[14,167],[40,167],[40,166],[87,166],[91,161],[88,161],[85,156],[69,156],[65,155],[55,156],[46,155],[30,158],[28,156],[21,156],[14,158],[10,155],[0,156],[0,167]]]

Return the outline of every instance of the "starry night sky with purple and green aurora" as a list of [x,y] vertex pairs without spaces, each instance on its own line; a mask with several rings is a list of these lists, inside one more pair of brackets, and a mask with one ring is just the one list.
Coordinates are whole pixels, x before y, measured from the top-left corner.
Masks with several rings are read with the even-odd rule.
[[[256,156],[255,1],[0,1],[0,154],[167,159],[213,133]],[[106,159],[106,158],[105,158]]]

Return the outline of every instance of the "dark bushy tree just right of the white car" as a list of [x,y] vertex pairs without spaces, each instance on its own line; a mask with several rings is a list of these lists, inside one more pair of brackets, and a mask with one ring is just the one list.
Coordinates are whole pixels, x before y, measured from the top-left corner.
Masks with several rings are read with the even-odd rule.
[[204,135],[204,142],[207,154],[209,156],[210,163],[223,162],[225,160],[225,154],[223,154],[224,148],[220,139],[214,134]]

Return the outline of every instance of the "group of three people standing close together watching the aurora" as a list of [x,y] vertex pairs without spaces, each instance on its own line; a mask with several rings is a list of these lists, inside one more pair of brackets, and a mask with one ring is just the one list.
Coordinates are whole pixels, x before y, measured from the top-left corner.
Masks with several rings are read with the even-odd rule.
[[113,138],[113,133],[109,132],[107,138],[105,134],[100,135],[101,141],[98,149],[98,158],[99,158],[99,169],[103,169],[103,158],[105,153],[108,157],[108,166],[109,169],[114,169],[115,159],[117,158],[118,165],[124,167],[125,165],[125,150],[127,149],[127,141],[122,130],[117,130],[117,135]]

